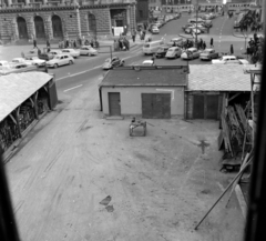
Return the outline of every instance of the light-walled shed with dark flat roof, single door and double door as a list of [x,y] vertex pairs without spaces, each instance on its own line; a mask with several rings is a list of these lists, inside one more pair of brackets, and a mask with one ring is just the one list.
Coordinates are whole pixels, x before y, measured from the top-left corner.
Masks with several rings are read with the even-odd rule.
[[123,67],[110,70],[100,84],[105,116],[146,119],[183,117],[188,66]]

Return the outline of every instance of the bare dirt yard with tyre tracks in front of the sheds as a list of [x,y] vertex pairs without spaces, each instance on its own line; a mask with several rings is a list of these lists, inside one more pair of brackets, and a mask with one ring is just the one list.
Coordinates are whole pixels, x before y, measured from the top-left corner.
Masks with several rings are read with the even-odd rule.
[[219,172],[218,123],[147,120],[146,137],[130,137],[130,119],[99,111],[99,81],[41,120],[6,165],[21,240],[242,241],[235,197],[194,230],[234,177]]

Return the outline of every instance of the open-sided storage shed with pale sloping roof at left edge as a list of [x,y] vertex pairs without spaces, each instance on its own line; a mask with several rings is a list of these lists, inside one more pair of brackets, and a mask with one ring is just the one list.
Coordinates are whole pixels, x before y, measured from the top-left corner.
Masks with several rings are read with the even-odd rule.
[[57,102],[52,74],[23,72],[0,77],[0,145],[3,150],[8,150]]

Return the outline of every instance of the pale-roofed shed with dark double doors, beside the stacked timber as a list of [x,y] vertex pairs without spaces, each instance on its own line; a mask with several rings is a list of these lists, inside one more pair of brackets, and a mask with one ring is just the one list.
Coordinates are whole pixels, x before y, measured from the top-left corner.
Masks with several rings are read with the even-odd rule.
[[191,64],[185,96],[186,119],[218,120],[223,107],[249,100],[250,76],[242,64]]

